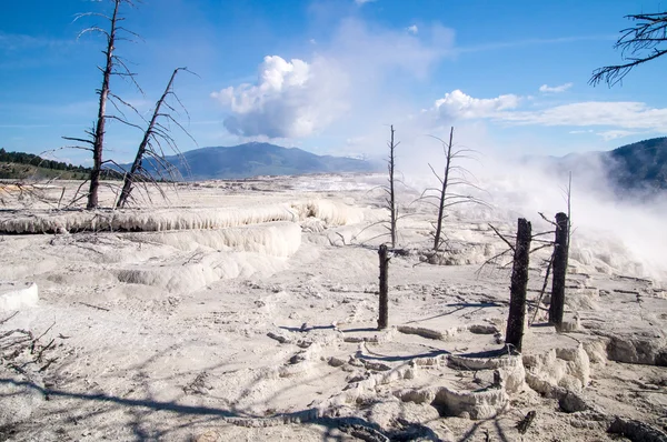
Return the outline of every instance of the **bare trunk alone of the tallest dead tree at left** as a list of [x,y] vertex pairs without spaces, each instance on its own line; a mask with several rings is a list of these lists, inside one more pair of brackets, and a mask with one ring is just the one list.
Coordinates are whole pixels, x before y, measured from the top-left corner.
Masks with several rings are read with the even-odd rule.
[[103,70],[102,88],[100,89],[100,106],[98,109],[98,119],[94,127],[94,137],[92,142],[92,171],[90,172],[90,190],[88,192],[87,209],[98,207],[98,191],[100,187],[100,174],[102,172],[102,150],[104,148],[104,121],[107,115],[107,100],[109,98],[109,80],[113,72],[113,50],[116,43],[116,24],[118,20],[118,8],[121,0],[115,0],[113,16],[111,17],[111,30],[107,37],[107,64]]

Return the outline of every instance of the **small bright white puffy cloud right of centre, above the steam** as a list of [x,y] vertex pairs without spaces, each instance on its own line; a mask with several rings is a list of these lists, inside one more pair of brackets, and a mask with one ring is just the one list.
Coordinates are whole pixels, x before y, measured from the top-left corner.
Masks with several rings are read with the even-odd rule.
[[439,115],[446,119],[491,118],[499,111],[515,109],[519,100],[520,98],[514,94],[490,99],[472,98],[457,89],[437,100],[435,108]]

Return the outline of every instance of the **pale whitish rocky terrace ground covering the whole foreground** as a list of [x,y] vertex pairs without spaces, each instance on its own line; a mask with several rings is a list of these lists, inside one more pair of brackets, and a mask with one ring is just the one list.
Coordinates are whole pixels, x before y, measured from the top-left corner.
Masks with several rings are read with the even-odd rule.
[[377,180],[206,182],[96,213],[58,188],[6,198],[0,440],[665,440],[659,278],[577,232],[558,333],[534,254],[512,354],[508,260],[482,264],[514,213],[452,212],[432,254],[432,210],[406,195],[378,331]]

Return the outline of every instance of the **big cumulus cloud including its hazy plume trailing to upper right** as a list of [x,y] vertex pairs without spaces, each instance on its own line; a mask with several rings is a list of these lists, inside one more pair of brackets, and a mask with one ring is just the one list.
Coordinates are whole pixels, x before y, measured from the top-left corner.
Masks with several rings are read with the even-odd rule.
[[417,37],[346,19],[330,41],[318,42],[312,57],[266,57],[257,81],[211,97],[230,111],[225,127],[232,134],[306,138],[322,134],[334,122],[354,133],[357,127],[385,123],[396,108],[391,100],[400,100],[405,112],[402,99],[388,98],[387,88],[396,91],[409,79],[426,78],[452,47],[454,31],[437,23]]

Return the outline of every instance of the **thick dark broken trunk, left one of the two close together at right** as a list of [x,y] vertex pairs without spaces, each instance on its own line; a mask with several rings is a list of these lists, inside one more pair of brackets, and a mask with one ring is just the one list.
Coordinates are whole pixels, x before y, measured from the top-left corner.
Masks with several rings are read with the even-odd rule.
[[518,352],[521,351],[521,342],[524,340],[530,235],[530,222],[524,218],[519,218],[514,265],[511,269],[509,318],[507,319],[507,332],[505,333],[505,343],[512,345]]

